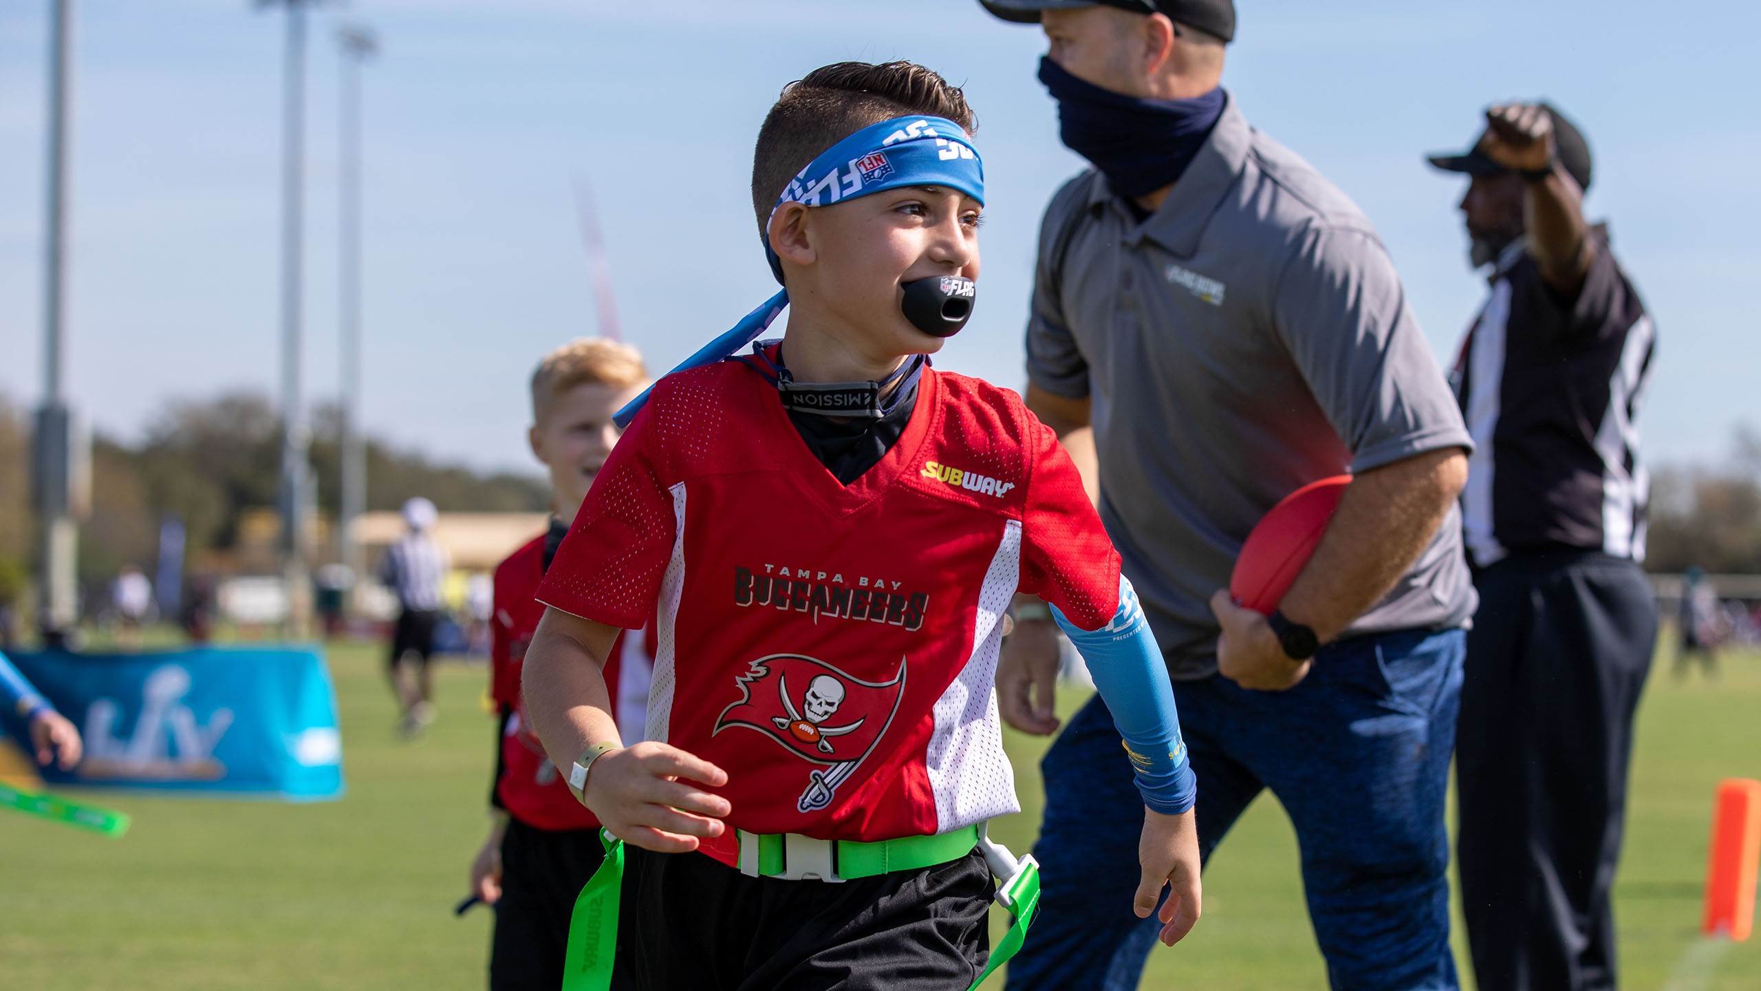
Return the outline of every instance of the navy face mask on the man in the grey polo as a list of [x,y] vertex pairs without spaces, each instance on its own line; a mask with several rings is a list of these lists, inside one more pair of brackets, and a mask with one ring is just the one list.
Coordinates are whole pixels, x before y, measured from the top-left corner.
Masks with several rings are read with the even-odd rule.
[[1058,101],[1058,138],[1088,159],[1120,196],[1173,183],[1222,116],[1222,86],[1190,101],[1146,101],[1104,90],[1039,60],[1039,81]]

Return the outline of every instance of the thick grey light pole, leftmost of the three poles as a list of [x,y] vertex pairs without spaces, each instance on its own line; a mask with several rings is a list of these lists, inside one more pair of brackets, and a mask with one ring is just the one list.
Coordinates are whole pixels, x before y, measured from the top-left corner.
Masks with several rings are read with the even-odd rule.
[[65,393],[65,339],[62,314],[65,284],[62,261],[67,242],[67,56],[72,0],[49,4],[49,162],[44,190],[42,259],[42,406],[37,409],[37,626],[46,642],[60,644],[77,622],[74,559],[79,527],[72,515],[72,416]]

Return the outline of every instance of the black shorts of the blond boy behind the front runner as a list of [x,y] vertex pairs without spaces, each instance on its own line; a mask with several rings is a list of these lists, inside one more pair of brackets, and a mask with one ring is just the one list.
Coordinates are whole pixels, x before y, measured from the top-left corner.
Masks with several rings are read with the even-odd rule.
[[[509,820],[502,838],[502,899],[490,943],[490,991],[556,991],[569,947],[574,896],[593,876],[606,848],[597,829],[539,829]],[[613,991],[634,991],[629,968]]]

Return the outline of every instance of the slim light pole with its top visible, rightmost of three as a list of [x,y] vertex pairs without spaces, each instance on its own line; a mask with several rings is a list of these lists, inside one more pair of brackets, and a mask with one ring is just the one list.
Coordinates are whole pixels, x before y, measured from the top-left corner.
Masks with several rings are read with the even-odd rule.
[[342,504],[336,513],[336,557],[359,578],[361,543],[356,520],[366,511],[366,444],[361,437],[361,65],[379,53],[379,39],[365,26],[336,30],[342,46],[342,162],[338,178],[342,250],[338,252],[338,305],[342,324]]

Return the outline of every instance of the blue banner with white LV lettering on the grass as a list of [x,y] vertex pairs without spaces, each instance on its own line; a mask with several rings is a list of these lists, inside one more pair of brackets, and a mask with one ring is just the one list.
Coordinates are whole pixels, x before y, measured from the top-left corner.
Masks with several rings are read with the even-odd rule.
[[41,771],[51,785],[342,797],[336,691],[312,647],[9,656],[85,737],[79,767]]

